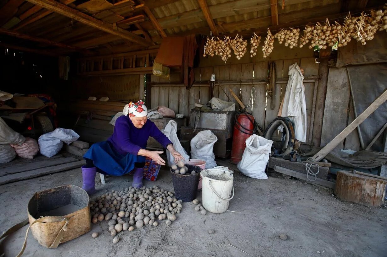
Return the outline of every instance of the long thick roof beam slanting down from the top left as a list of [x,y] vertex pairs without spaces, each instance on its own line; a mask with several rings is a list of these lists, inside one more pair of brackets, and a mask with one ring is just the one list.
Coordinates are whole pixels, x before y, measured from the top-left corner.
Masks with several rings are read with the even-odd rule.
[[44,8],[47,8],[48,10],[54,11],[58,14],[62,14],[66,17],[69,17],[70,19],[77,20],[83,24],[89,25],[91,27],[94,27],[96,29],[102,30],[104,32],[122,37],[123,39],[127,39],[129,41],[135,42],[137,44],[140,44],[142,46],[149,46],[150,42],[147,42],[144,38],[139,37],[133,33],[130,33],[126,30],[123,30],[121,28],[117,28],[116,30],[113,28],[113,25],[104,22],[102,20],[95,19],[94,17],[91,17],[87,14],[84,14],[78,10],[74,10],[73,8],[67,7],[66,5],[63,5],[61,3],[55,2],[55,1],[43,1],[43,0],[27,0],[30,3],[33,3],[35,5],[40,5]]

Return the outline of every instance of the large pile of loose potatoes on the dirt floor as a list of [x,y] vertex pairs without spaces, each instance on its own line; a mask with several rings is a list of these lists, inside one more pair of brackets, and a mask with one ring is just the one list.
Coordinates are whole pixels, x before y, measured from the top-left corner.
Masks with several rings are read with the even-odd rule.
[[[92,223],[106,220],[112,237],[122,230],[133,231],[144,226],[158,226],[158,221],[166,220],[171,225],[176,220],[176,213],[182,210],[182,200],[158,186],[153,188],[125,188],[112,190],[90,201]],[[118,242],[114,238],[113,242]],[[115,242],[116,241],[116,242]]]

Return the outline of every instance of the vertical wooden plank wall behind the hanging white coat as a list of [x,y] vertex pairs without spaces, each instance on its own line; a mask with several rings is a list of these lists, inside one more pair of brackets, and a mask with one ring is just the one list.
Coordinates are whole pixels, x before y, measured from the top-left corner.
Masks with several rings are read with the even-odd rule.
[[[279,106],[285,94],[286,85],[288,82],[289,66],[298,63],[305,70],[304,76],[318,76],[319,63],[315,63],[314,57],[295,58],[286,60],[277,60],[276,63],[276,94],[273,98],[275,101],[274,109],[270,107],[271,99],[266,99],[266,79],[268,73],[268,61],[257,63],[231,64],[214,67],[199,67],[195,69],[195,78],[197,82],[205,84],[194,84],[191,90],[186,90],[183,85],[169,84],[172,81],[160,79],[156,76],[151,76],[152,84],[152,100],[151,107],[164,105],[171,108],[176,113],[188,115],[188,111],[193,108],[195,102],[207,103],[210,99],[209,85],[206,84],[211,78],[211,74],[215,74],[216,84],[214,87],[214,96],[225,101],[233,101],[235,99],[229,93],[231,89],[245,105],[249,105],[248,110],[262,128],[267,127],[269,123],[277,118]],[[313,119],[315,112],[323,112],[316,110],[317,96],[317,81],[318,79],[307,79],[305,85],[305,99],[307,102],[307,144],[312,144]],[[158,83],[155,85],[154,83]],[[251,95],[253,93],[253,99]],[[236,103],[238,108],[238,103]],[[311,125],[312,124],[312,125]]]

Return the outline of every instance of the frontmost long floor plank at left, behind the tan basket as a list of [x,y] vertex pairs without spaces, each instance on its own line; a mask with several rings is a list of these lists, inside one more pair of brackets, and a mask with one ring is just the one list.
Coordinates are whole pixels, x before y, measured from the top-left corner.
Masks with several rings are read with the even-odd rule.
[[82,161],[70,162],[66,164],[60,164],[54,167],[45,167],[41,169],[35,169],[32,171],[9,174],[9,175],[0,177],[0,185],[21,181],[25,179],[30,179],[30,178],[36,178],[36,177],[57,173],[61,171],[67,171],[69,169],[76,169],[81,167],[84,164],[85,164],[85,161],[82,160]]

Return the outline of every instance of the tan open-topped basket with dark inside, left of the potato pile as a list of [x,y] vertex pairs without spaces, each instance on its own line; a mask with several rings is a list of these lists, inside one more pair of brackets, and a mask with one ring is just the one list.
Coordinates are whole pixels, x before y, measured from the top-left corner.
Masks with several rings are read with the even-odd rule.
[[[80,206],[79,210],[64,216],[45,218],[38,216],[39,213],[70,203]],[[89,196],[82,188],[74,185],[59,186],[35,193],[29,200],[27,212],[34,238],[47,248],[56,248],[59,243],[77,238],[91,229]]]

